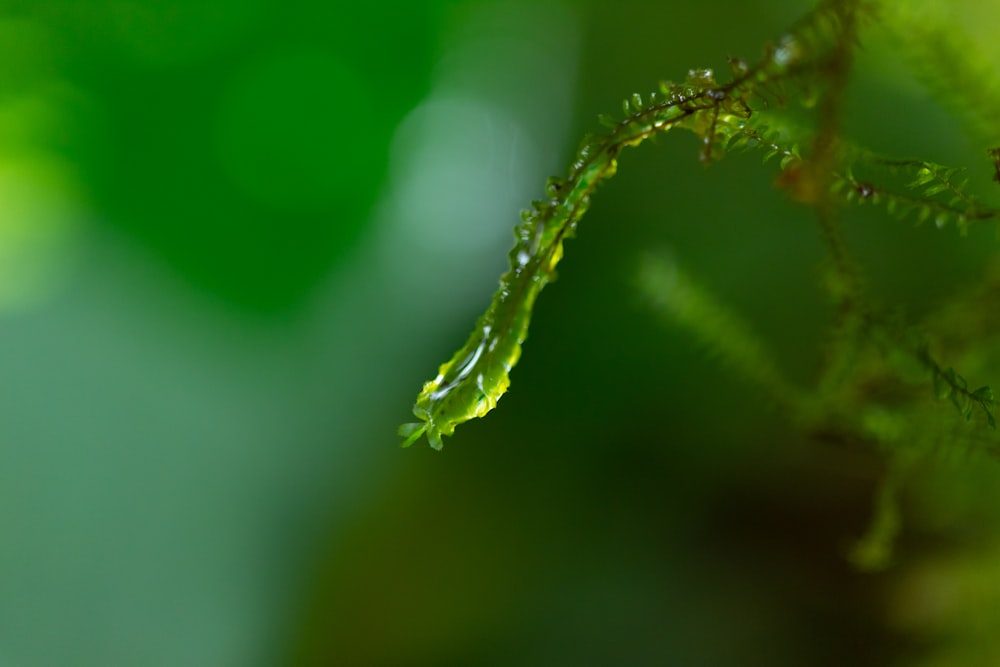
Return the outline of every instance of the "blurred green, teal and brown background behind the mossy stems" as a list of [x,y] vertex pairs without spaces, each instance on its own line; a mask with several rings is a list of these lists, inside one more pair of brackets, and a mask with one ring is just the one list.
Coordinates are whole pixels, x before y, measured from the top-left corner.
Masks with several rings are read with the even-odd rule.
[[[502,409],[397,449],[596,115],[808,6],[0,4],[0,667],[908,650],[899,575],[844,558],[877,461],[802,442],[635,296],[669,249],[809,382],[825,252],[756,156],[624,156]],[[982,162],[888,47],[861,58],[857,136]],[[995,245],[848,233],[917,316]]]

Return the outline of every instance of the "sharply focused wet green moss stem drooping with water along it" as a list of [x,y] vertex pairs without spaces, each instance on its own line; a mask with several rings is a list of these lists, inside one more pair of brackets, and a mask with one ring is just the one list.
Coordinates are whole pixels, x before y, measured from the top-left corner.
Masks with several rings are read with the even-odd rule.
[[701,137],[702,161],[720,156],[738,127],[734,119],[752,116],[752,99],[763,105],[782,100],[785,81],[815,67],[814,59],[836,43],[838,12],[833,4],[818,10],[777,46],[768,47],[753,67],[733,59],[728,83],[719,84],[712,70],[694,69],[682,83],[663,83],[645,100],[638,94],[626,98],[621,120],[602,116],[609,132],[586,137],[567,177],[549,179],[546,199],[522,213],[500,289],[465,345],[424,385],[413,409],[423,423],[400,428],[403,446],[426,434],[431,446],[440,449],[442,436],[496,407],[520,358],[535,298],[555,278],[563,241],[575,233],[597,187],[614,176],[625,148],[683,128]]

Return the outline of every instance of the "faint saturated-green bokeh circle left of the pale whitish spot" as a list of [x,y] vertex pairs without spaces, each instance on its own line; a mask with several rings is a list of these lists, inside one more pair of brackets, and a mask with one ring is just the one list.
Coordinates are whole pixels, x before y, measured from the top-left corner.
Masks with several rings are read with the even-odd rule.
[[216,147],[245,194],[291,208],[328,206],[367,187],[381,155],[364,81],[321,50],[286,52],[249,67],[220,103]]

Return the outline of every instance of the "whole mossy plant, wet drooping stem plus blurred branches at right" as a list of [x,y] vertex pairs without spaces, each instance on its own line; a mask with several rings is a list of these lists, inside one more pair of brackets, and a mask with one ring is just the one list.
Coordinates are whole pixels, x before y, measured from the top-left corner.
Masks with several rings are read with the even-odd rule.
[[[842,238],[838,216],[846,205],[880,207],[894,218],[915,225],[930,220],[963,235],[1000,217],[1000,210],[970,192],[964,169],[879,155],[841,136],[852,54],[859,34],[881,25],[882,9],[855,0],[824,2],[767,45],[756,64],[731,58],[727,81],[718,81],[712,70],[693,69],[680,83],[665,82],[649,95],[626,98],[621,117],[599,116],[605,131],[586,137],[566,177],[550,179],[545,198],[522,214],[500,289],[465,345],[424,385],[414,407],[420,421],[400,429],[403,445],[426,435],[441,449],[442,437],[456,426],[496,407],[520,358],[535,300],[555,279],[563,242],[574,235],[591,196],[616,173],[626,148],[682,129],[700,139],[703,163],[737,152],[761,154],[765,165],[777,166],[776,185],[815,211],[832,257],[826,283],[837,316],[824,369],[809,389],[793,387],[750,329],[666,256],[640,262],[638,286],[650,306],[765,390],[793,424],[817,440],[862,444],[906,460],[962,446],[998,451],[992,433],[977,430],[979,422],[996,427],[992,389],[969,389],[962,375],[932,358],[925,335],[869,302],[861,267]],[[950,99],[974,101],[968,82],[985,76],[977,62],[950,80],[960,89]],[[952,66],[961,69],[961,63]],[[935,86],[946,83],[933,72],[928,77]],[[986,108],[991,91],[988,86],[981,91],[989,98]],[[812,121],[803,121],[803,115]],[[1000,149],[988,154],[1000,181]],[[937,399],[957,412],[937,409]],[[863,568],[877,569],[890,560],[901,483],[897,472],[892,475],[879,496],[873,528],[852,556]]]

